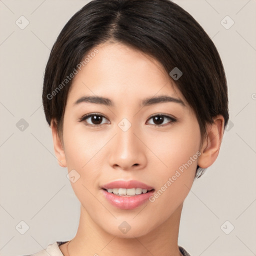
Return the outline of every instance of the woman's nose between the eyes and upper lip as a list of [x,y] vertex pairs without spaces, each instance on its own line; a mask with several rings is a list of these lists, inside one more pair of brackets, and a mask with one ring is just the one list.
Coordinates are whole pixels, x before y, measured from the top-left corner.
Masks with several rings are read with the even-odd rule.
[[109,164],[112,168],[132,170],[146,165],[146,146],[140,132],[131,125],[123,131],[117,127],[110,147]]

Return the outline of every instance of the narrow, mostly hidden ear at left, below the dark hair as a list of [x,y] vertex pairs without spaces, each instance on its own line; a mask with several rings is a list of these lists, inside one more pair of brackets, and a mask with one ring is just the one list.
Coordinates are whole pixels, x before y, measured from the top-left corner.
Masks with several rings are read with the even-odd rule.
[[58,135],[58,132],[57,132],[55,119],[51,119],[50,128],[51,128],[51,133],[52,133],[54,152],[55,152],[55,155],[57,157],[58,164],[61,167],[66,167],[64,147],[62,145],[61,139],[60,139],[60,137]]

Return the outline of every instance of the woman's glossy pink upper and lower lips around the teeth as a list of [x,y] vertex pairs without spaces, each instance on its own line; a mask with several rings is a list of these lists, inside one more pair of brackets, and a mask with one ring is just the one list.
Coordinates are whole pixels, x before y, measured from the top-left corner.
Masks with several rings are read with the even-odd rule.
[[[146,193],[137,194],[134,196],[121,196],[121,195],[115,195],[113,193],[108,193],[105,189],[108,188],[136,188],[140,187],[142,189],[151,190]],[[109,201],[113,206],[120,208],[120,209],[134,209],[143,203],[145,203],[148,198],[153,194],[154,190],[153,187],[146,185],[145,183],[142,183],[140,181],[136,180],[129,180],[129,181],[123,181],[123,180],[117,180],[112,181],[110,183],[107,183],[102,186],[103,189],[101,189],[101,192],[103,193],[104,197]]]

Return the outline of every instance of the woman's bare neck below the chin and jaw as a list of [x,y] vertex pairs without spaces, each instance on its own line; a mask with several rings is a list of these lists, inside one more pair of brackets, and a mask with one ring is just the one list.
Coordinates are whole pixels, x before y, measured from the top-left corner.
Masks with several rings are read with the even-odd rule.
[[181,254],[177,239],[181,209],[182,204],[157,227],[148,232],[145,231],[143,235],[132,235],[127,238],[125,235],[117,236],[106,232],[91,219],[81,205],[77,233],[68,244],[66,254],[68,256],[117,256],[120,254],[122,256],[179,256]]

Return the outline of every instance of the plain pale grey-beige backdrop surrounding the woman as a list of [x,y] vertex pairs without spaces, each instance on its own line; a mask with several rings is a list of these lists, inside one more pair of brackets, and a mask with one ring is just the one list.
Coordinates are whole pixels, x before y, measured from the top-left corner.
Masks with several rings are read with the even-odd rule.
[[[76,233],[79,201],[55,158],[41,92],[53,42],[87,2],[0,0],[0,255],[34,253]],[[230,109],[219,156],[185,199],[179,245],[192,256],[256,255],[256,0],[175,2],[215,43]],[[15,23],[25,24],[21,15],[24,29]]]

